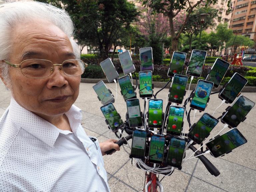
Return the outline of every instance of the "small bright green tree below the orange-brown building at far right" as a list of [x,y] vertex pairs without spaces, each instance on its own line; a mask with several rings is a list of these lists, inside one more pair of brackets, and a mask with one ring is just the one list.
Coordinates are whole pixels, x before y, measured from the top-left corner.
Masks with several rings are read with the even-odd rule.
[[[233,42],[234,42],[234,45],[233,45]],[[234,52],[236,52],[236,49],[238,46],[249,46],[249,47],[254,46],[254,41],[251,40],[249,37],[245,37],[244,35],[237,35],[237,36],[232,35],[230,40],[226,43],[226,47],[231,47],[232,45],[234,48]]]

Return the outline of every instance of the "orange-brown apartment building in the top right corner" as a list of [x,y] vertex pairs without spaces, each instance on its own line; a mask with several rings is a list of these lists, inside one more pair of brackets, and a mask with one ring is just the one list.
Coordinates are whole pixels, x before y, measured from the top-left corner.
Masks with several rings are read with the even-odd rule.
[[245,35],[256,41],[256,0],[235,0],[230,28],[237,35]]

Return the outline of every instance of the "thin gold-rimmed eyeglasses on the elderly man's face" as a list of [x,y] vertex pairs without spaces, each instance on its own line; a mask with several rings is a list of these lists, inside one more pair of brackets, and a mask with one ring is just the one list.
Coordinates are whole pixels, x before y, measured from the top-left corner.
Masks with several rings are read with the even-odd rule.
[[67,76],[79,76],[84,73],[87,63],[79,59],[70,59],[63,61],[62,64],[53,64],[53,62],[45,59],[28,59],[22,61],[19,65],[10,63],[4,60],[6,64],[12,67],[19,67],[21,73],[28,78],[42,79],[49,77],[53,71],[54,66],[60,66],[59,69]]

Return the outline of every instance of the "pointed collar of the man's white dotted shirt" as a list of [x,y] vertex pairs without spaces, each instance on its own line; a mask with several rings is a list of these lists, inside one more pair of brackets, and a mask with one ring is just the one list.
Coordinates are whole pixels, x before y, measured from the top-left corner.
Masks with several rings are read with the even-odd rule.
[[[11,98],[9,114],[11,115],[12,121],[16,125],[20,126],[22,129],[51,147],[54,146],[54,143],[60,133],[68,134],[67,131],[58,129],[50,122],[21,107],[13,98]],[[76,135],[78,127],[77,124],[79,124],[82,119],[80,109],[72,105],[66,115],[69,119],[71,130]]]

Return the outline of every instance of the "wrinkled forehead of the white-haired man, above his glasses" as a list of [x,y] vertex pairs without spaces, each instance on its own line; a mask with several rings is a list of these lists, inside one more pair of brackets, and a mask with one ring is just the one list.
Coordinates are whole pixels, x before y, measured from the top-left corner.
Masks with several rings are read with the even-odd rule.
[[46,55],[74,56],[68,36],[46,21],[18,23],[13,28],[12,43],[12,55],[17,60],[45,58]]

